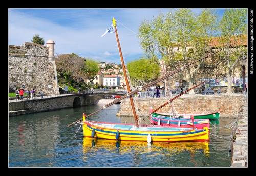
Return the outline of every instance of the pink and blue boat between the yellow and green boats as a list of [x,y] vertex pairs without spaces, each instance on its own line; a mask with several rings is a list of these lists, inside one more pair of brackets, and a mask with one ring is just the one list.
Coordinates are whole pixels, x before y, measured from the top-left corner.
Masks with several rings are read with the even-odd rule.
[[197,129],[203,129],[204,127],[210,128],[210,120],[209,119],[184,119],[184,118],[173,118],[162,115],[150,115],[150,121],[152,124],[168,126],[168,127],[183,127],[183,128],[191,128],[194,127]]

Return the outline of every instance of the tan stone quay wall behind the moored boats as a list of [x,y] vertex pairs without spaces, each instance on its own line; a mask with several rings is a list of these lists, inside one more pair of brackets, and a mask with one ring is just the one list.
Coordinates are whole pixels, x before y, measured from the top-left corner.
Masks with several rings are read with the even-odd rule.
[[[150,108],[157,109],[168,102],[168,97],[161,98],[136,98],[136,104],[140,112],[148,116]],[[136,105],[135,104],[135,105]],[[174,108],[178,114],[209,113],[218,111],[220,117],[236,117],[241,105],[247,106],[247,94],[232,95],[182,95],[174,100]],[[138,109],[137,108],[137,109]],[[136,107],[135,107],[136,109]],[[170,104],[162,107],[158,112],[170,113]],[[121,108],[118,116],[133,116],[130,98],[121,100]],[[137,113],[138,115],[138,113]]]

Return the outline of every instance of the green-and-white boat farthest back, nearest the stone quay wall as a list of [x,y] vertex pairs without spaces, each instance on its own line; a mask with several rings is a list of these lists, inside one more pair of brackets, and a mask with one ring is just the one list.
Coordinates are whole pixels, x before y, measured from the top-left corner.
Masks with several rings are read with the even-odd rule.
[[[165,117],[173,117],[172,113],[162,113],[162,112],[154,112],[152,113],[154,116],[165,116]],[[220,111],[210,112],[210,113],[196,113],[196,114],[177,114],[176,117],[183,119],[191,119],[191,116],[194,116],[194,119],[209,119],[209,120],[218,120],[220,118]]]

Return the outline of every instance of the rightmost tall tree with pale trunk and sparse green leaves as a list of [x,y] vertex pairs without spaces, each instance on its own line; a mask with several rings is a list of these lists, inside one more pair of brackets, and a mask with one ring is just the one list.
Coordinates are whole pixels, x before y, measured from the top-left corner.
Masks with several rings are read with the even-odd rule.
[[232,46],[219,54],[225,61],[224,64],[228,70],[227,94],[232,94],[232,71],[236,64],[242,60],[243,53],[247,53],[247,49],[244,48],[248,29],[247,9],[226,9],[220,21],[219,28],[221,31],[220,47],[237,42],[233,45],[236,49],[232,49]]

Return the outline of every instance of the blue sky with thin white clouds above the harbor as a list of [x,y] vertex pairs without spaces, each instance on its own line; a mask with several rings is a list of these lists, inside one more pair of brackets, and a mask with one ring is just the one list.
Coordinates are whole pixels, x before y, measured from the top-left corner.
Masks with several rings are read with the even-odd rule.
[[[166,14],[169,8],[144,9],[8,9],[8,45],[31,42],[34,35],[53,40],[55,54],[75,53],[83,58],[121,64],[115,33],[100,37],[117,20],[125,63],[139,59],[143,50],[137,37],[142,21]],[[224,9],[216,9],[223,15]],[[199,13],[201,9],[193,9]],[[46,44],[45,44],[46,46]]]

